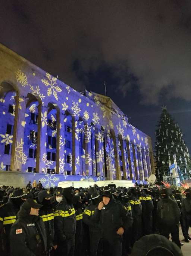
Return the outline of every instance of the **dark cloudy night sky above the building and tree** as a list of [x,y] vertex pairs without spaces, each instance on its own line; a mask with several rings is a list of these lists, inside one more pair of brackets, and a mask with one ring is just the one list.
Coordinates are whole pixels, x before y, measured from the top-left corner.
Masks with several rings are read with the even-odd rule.
[[190,0],[1,0],[0,42],[76,90],[106,81],[153,142],[166,105],[191,151]]

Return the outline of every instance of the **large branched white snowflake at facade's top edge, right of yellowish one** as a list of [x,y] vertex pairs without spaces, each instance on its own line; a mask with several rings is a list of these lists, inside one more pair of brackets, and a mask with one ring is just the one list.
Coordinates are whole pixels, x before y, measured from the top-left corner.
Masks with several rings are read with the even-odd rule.
[[50,97],[53,94],[54,98],[58,100],[57,93],[60,93],[62,89],[56,84],[57,77],[51,76],[49,73],[46,73],[46,77],[48,79],[41,79],[41,81],[47,87],[49,86],[49,88],[47,89],[47,96]]

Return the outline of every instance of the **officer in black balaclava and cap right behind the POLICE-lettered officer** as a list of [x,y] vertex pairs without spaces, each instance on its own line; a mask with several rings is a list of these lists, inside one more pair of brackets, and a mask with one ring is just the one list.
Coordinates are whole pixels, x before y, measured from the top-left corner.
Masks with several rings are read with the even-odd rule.
[[50,256],[51,249],[56,250],[57,248],[54,242],[54,211],[50,204],[51,196],[49,190],[41,190],[38,193],[38,202],[43,205],[40,208],[39,216],[43,220],[46,229],[47,256]]

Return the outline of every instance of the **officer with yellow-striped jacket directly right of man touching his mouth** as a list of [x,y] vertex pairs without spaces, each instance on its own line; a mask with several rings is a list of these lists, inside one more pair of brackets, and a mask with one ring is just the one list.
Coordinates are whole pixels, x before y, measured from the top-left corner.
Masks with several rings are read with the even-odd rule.
[[133,226],[132,226],[132,241],[133,245],[142,236],[142,205],[139,200],[139,189],[138,187],[132,187],[130,189],[131,195],[129,198],[129,203],[132,208],[133,215]]

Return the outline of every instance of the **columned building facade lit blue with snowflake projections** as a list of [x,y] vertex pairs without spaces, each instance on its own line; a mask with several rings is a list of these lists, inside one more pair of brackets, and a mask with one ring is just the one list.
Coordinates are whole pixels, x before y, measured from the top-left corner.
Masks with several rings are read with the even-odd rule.
[[144,180],[151,139],[106,96],[78,92],[0,45],[0,169]]

